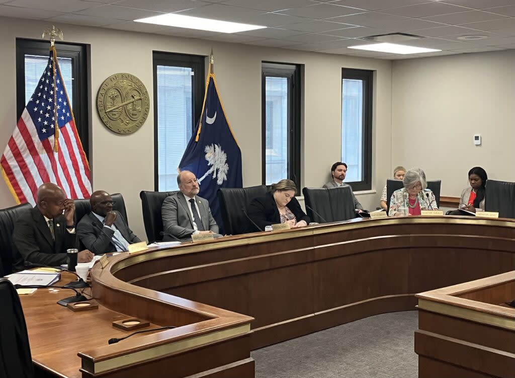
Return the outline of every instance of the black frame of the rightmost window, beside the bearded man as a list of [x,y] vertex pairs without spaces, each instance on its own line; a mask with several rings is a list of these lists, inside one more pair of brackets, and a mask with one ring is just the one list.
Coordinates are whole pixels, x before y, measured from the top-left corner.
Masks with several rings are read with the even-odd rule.
[[[372,189],[372,104],[374,71],[342,68],[341,88],[344,85],[344,79],[363,80],[363,180],[348,182],[348,184],[352,187],[353,191],[370,190]],[[340,93],[342,93],[342,90],[340,90]],[[340,98],[341,112],[344,111],[342,103],[343,98]],[[342,114],[340,113],[340,120],[341,116]],[[340,123],[340,128],[341,127]]]

